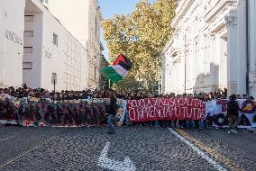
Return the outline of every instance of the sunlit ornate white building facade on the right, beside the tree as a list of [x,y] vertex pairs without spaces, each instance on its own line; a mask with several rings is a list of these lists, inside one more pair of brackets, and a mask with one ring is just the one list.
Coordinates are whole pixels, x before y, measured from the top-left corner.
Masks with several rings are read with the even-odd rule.
[[[208,93],[227,87],[227,27],[225,16],[235,8],[236,0],[182,0],[172,23],[172,42],[164,51],[171,81],[163,81],[165,93]],[[178,55],[177,55],[178,54]],[[176,58],[180,58],[177,63]],[[167,65],[163,65],[167,66]],[[186,66],[186,80],[185,80]],[[182,69],[183,67],[183,69]],[[165,78],[164,78],[165,79]],[[169,85],[170,84],[170,85]]]

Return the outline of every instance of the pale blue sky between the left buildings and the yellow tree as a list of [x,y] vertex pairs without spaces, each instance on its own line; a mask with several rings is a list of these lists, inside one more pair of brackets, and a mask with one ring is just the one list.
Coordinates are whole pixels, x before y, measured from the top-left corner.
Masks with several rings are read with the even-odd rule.
[[[112,18],[114,14],[131,14],[140,0],[98,0],[101,13],[104,19]],[[150,3],[154,0],[149,0]],[[108,49],[101,33],[101,41],[104,46],[103,55],[108,59]]]

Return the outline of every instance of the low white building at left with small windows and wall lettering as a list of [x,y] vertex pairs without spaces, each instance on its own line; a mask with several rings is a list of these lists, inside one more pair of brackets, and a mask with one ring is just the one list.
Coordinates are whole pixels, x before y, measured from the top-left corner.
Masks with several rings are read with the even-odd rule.
[[52,90],[57,76],[56,90],[87,88],[87,46],[50,13],[49,3],[0,1],[0,87]]

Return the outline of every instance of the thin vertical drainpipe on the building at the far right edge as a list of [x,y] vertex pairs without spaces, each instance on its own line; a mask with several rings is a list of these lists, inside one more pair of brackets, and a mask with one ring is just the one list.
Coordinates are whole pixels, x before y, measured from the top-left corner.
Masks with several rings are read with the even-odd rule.
[[245,0],[246,5],[246,95],[249,97],[250,89],[249,89],[249,72],[250,72],[250,23],[249,23],[249,0]]

